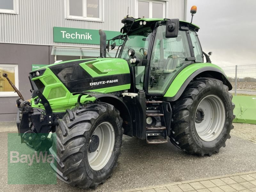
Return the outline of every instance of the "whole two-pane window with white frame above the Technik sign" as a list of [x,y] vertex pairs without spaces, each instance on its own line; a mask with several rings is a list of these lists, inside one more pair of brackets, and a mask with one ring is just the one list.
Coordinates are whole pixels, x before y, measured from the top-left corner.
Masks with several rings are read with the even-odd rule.
[[104,0],[67,0],[67,19],[103,20]]

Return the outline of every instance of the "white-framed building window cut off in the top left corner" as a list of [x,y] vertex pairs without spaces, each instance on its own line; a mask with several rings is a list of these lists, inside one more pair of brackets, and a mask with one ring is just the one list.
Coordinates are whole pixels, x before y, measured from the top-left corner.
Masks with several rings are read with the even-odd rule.
[[0,0],[0,13],[19,13],[19,0]]

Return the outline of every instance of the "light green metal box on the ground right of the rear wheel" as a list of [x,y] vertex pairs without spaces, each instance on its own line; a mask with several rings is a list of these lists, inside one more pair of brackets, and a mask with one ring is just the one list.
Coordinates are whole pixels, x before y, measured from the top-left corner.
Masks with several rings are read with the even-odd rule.
[[233,96],[235,123],[256,124],[256,96]]

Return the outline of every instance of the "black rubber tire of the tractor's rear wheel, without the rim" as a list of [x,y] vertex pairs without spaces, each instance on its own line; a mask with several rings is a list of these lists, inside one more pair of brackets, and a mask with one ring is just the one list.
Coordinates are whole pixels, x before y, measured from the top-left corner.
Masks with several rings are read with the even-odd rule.
[[[225,112],[223,112],[225,119],[222,120],[225,123],[219,129],[218,137],[213,138],[211,141],[203,140],[196,131],[196,126],[198,125],[195,125],[199,103],[207,96],[217,96],[225,108]],[[189,154],[211,156],[214,152],[219,153],[220,148],[226,146],[225,142],[230,138],[230,130],[234,128],[232,125],[232,121],[235,118],[233,115],[234,108],[232,94],[228,92],[228,87],[220,80],[198,78],[195,81],[191,81],[179,100],[175,101],[172,106],[171,142]],[[216,118],[216,116],[212,116],[212,118]],[[204,116],[201,116],[201,119],[201,121],[206,121]]]

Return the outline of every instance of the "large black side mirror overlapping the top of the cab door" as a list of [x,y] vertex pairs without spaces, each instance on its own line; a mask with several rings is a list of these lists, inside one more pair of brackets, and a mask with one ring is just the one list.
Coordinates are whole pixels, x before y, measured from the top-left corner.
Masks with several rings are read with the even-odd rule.
[[166,30],[165,30],[165,37],[166,38],[174,38],[177,37],[179,34],[179,19],[164,19],[166,20]]

